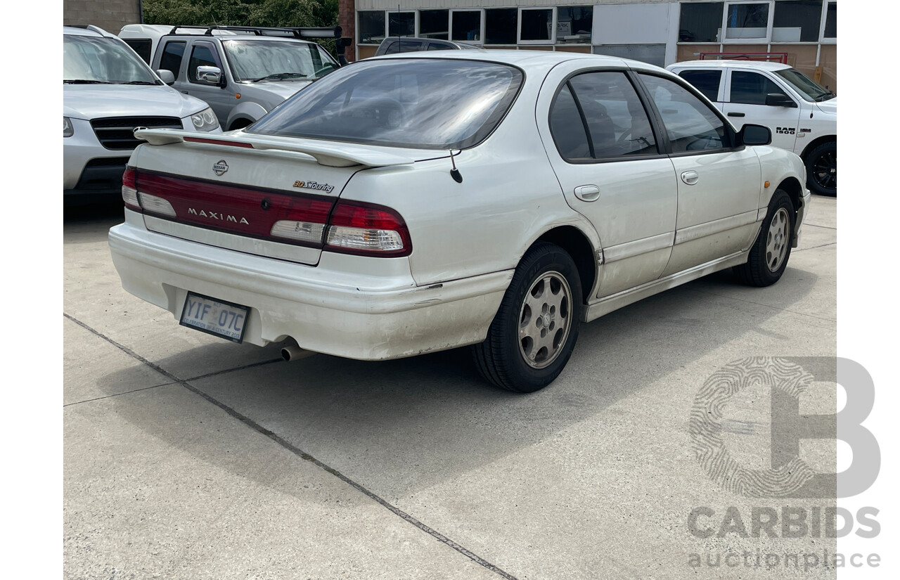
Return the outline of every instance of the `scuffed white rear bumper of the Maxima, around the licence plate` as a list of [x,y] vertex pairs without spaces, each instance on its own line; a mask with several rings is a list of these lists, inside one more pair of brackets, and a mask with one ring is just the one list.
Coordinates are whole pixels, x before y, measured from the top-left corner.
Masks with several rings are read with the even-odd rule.
[[326,252],[311,267],[156,234],[125,214],[109,235],[122,287],[175,318],[188,291],[247,306],[251,344],[292,337],[314,352],[379,361],[480,343],[513,274],[418,287],[407,258]]

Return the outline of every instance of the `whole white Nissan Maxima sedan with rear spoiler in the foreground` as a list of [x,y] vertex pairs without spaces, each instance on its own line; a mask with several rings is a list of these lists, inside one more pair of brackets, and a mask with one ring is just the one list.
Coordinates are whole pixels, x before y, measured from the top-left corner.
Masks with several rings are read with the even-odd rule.
[[247,129],[137,132],[122,286],[240,343],[385,360],[473,345],[545,387],[581,322],[734,267],[778,281],[800,158],[678,76],[564,52],[370,58]]

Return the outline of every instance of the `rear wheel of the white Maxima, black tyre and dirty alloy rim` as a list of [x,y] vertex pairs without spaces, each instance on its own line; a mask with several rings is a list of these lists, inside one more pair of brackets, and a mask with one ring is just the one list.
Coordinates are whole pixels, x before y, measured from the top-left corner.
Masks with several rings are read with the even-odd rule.
[[518,264],[487,339],[473,345],[475,365],[500,388],[535,392],[563,371],[580,321],[578,268],[560,246],[538,242]]

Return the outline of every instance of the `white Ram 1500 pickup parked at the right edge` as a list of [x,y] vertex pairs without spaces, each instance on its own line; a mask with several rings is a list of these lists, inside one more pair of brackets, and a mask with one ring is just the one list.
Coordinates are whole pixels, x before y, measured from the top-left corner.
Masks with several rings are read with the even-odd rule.
[[836,95],[796,68],[752,60],[691,60],[667,67],[696,86],[741,129],[765,125],[772,145],[793,151],[806,165],[809,189],[837,195]]

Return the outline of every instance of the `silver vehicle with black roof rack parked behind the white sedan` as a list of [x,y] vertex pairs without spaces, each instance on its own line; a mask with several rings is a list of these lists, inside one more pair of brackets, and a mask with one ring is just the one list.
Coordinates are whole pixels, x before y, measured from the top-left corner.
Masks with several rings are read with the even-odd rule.
[[[152,67],[174,76],[172,86],[207,103],[226,130],[247,127],[284,99],[340,65],[328,50],[301,40],[303,30],[340,37],[340,28],[244,26],[150,28],[128,24],[121,39],[151,49]],[[160,34],[160,32],[165,32]]]

